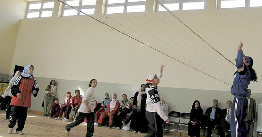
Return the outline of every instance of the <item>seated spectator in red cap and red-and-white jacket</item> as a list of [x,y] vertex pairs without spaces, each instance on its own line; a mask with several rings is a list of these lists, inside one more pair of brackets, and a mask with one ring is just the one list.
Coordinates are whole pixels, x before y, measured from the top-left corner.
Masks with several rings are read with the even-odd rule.
[[64,119],[62,121],[69,121],[68,118],[72,109],[71,103],[72,103],[71,92],[67,91],[67,97],[64,99],[64,104],[61,106],[59,117],[55,118],[56,120],[61,120],[61,117],[64,113]]

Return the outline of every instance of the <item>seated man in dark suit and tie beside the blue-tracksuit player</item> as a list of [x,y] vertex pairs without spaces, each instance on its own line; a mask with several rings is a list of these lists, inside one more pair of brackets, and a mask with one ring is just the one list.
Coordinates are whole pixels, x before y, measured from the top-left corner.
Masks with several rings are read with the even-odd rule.
[[230,130],[230,112],[232,101],[226,102],[226,108],[222,110],[221,125],[220,125],[220,137],[225,137],[225,133]]

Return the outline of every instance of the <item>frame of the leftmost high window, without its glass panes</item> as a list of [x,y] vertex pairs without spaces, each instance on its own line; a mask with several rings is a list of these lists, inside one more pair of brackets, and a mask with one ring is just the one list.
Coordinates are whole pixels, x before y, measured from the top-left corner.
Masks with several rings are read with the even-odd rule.
[[[34,17],[34,18],[46,18],[46,17],[41,17],[41,14],[42,14],[43,11],[54,11],[54,7],[53,8],[43,8],[44,3],[47,3],[47,2],[55,2],[55,0],[29,2],[28,7],[27,7],[27,11],[26,11],[26,19],[31,19],[31,18],[27,18],[27,16],[28,16],[28,13],[32,13],[32,12],[39,12],[39,16]],[[40,9],[29,9],[30,4],[37,4],[37,3],[41,3]],[[50,17],[52,17],[52,16],[50,16]]]

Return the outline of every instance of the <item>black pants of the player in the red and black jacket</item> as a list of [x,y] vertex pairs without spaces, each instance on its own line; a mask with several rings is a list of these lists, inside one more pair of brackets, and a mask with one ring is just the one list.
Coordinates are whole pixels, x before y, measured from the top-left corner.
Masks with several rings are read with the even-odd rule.
[[22,131],[24,129],[26,117],[27,117],[26,107],[12,106],[10,123],[8,124],[8,127],[14,128],[14,126],[16,125],[16,121],[18,120],[16,131]]

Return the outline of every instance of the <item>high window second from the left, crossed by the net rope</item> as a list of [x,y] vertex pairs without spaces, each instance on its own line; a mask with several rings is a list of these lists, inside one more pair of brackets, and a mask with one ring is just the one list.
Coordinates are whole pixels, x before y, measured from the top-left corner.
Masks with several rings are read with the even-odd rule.
[[[96,0],[66,0],[66,4],[73,6],[76,9],[84,12],[88,15],[94,15]],[[65,5],[63,10],[63,16],[79,16],[84,15],[82,12],[79,12],[76,9],[71,8],[70,6]]]

